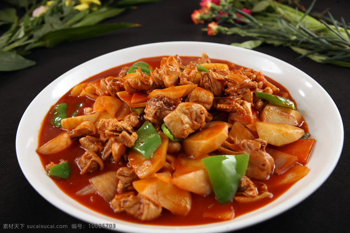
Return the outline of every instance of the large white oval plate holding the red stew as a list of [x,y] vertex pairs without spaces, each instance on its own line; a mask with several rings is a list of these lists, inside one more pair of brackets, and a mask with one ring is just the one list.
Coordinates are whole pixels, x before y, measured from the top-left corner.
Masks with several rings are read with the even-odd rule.
[[[42,119],[50,107],[74,85],[112,67],[140,58],[176,55],[210,58],[261,71],[285,86],[308,123],[316,143],[307,164],[310,172],[274,202],[230,221],[196,226],[151,226],[133,224],[94,212],[65,195],[47,176],[35,152]],[[35,118],[33,114],[35,113]],[[311,77],[277,58],[253,50],[206,42],[162,42],[121,49],[87,61],[64,73],[42,90],[23,114],[16,137],[21,169],[36,191],[58,209],[88,223],[114,223],[123,232],[209,233],[237,230],[272,218],[297,205],[312,194],[335,168],[342,151],[344,131],[339,111],[327,92]],[[113,229],[112,229],[113,230]]]

